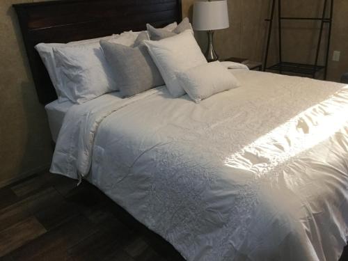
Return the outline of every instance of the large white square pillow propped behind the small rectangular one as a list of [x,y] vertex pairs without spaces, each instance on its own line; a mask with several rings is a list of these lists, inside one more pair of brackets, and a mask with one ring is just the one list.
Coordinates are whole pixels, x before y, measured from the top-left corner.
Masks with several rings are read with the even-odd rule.
[[177,81],[175,72],[186,71],[207,63],[191,30],[159,41],[147,40],[144,41],[144,44],[148,47],[150,55],[173,97],[185,94]]

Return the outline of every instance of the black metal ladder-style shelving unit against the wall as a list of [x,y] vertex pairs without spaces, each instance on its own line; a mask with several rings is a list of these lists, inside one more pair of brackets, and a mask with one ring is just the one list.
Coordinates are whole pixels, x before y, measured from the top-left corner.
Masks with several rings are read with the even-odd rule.
[[[269,45],[271,42],[271,31],[273,27],[274,22],[274,16],[275,16],[275,9],[276,9],[276,1],[278,1],[278,45],[279,45],[279,62],[275,65],[271,65],[267,67],[267,61],[269,56]],[[319,0],[318,0],[319,1]],[[330,3],[329,3],[330,2]],[[327,9],[329,6],[329,17],[326,17]],[[278,71],[280,74],[283,74],[285,72],[291,72],[294,74],[308,74],[311,75],[313,78],[317,76],[317,72],[324,70],[324,79],[326,79],[327,75],[327,65],[329,61],[329,50],[330,50],[330,40],[331,40],[331,25],[332,25],[332,19],[333,19],[333,0],[324,0],[323,10],[322,10],[322,17],[283,17],[282,15],[282,5],[281,0],[272,0],[271,3],[271,18],[266,19],[267,22],[269,22],[269,29],[268,29],[268,36],[267,36],[267,47],[266,47],[266,54],[264,56],[264,71],[265,70],[274,70]],[[317,44],[317,52],[315,54],[315,62],[313,64],[304,64],[304,63],[290,63],[283,61],[283,47],[282,47],[282,22],[283,20],[312,20],[312,21],[318,21],[321,22],[320,25],[320,31],[319,31],[319,39]],[[319,53],[320,48],[322,46],[322,38],[323,38],[323,31],[324,31],[324,24],[329,24],[328,29],[328,38],[326,43],[326,52],[324,65],[319,65]]]

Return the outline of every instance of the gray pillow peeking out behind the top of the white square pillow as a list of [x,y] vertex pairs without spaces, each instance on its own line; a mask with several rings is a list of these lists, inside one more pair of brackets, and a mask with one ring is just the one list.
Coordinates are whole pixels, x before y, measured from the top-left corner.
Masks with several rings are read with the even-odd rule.
[[148,29],[148,34],[150,35],[150,40],[161,40],[164,38],[169,38],[179,33],[182,33],[188,29],[192,30],[192,26],[190,24],[189,18],[185,17],[182,19],[182,22],[177,25],[177,27],[173,31],[169,31],[167,29],[161,28],[156,29],[150,24],[146,24],[146,28]]

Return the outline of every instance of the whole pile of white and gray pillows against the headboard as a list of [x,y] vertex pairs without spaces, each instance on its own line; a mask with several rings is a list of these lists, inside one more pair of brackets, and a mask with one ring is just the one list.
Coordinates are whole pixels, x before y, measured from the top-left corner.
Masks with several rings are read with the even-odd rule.
[[173,97],[187,93],[200,102],[239,85],[221,63],[207,63],[188,18],[163,29],[147,24],[147,29],[37,45],[58,100],[81,104],[116,90],[130,97],[166,84]]

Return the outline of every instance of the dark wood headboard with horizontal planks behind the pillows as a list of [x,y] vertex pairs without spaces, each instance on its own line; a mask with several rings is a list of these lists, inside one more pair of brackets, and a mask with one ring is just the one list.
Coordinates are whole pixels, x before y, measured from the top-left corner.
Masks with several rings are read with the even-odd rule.
[[71,42],[122,31],[145,30],[182,19],[181,0],[62,0],[15,4],[26,54],[40,103],[56,100],[56,92],[34,46]]

